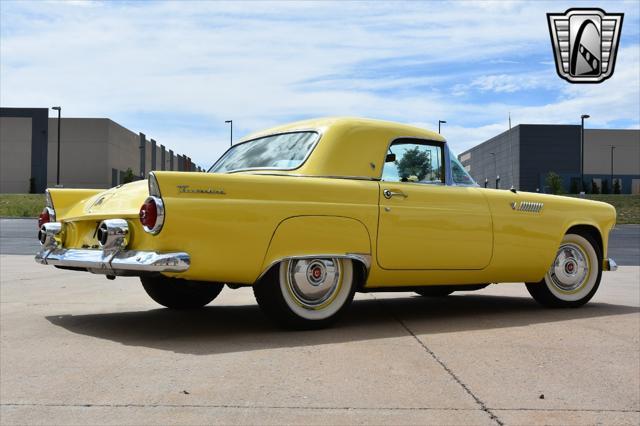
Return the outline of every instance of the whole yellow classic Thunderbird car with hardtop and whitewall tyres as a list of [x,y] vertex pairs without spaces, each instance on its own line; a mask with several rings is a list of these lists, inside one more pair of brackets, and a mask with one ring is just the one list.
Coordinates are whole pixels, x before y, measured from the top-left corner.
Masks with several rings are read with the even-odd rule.
[[139,276],[174,309],[252,286],[278,323],[319,328],[355,292],[523,282],[542,305],[583,305],[616,269],[615,220],[606,203],[480,188],[437,133],[324,118],[253,134],[208,173],[49,189],[36,261]]

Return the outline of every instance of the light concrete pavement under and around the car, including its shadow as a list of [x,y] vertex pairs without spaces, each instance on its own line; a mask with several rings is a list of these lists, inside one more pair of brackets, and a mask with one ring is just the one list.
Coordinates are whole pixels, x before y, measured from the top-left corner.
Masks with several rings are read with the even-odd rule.
[[336,327],[288,332],[249,289],[171,312],[135,278],[9,254],[28,223],[0,222],[2,424],[640,423],[639,227],[580,309],[519,284],[362,294]]

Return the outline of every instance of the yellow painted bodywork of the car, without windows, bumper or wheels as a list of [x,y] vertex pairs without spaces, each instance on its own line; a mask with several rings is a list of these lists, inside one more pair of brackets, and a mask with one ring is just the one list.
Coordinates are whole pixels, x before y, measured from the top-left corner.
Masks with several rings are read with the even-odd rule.
[[[476,187],[380,182],[393,139],[443,141],[436,133],[396,123],[329,118],[250,138],[296,129],[321,134],[297,170],[154,172],[166,210],[157,235],[144,232],[138,220],[148,196],[146,181],[108,191],[52,189],[58,219],[66,227],[64,245],[91,247],[97,244],[94,233],[100,220],[120,217],[129,221],[130,249],[191,255],[189,270],[176,276],[252,284],[265,268],[288,256],[362,253],[372,259],[368,287],[539,281],[574,225],[595,227],[606,257],[615,224],[615,209],[609,204]],[[214,192],[180,192],[180,185]],[[400,190],[408,197],[387,200],[384,189]],[[537,213],[511,208],[512,202],[521,201],[541,202],[544,207]]]

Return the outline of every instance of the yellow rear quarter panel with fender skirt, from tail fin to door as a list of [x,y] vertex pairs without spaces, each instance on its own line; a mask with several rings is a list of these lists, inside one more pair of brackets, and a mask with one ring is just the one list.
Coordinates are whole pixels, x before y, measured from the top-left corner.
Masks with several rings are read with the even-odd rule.
[[[166,216],[154,246],[191,255],[184,278],[251,284],[294,249],[370,251],[365,232],[377,223],[376,182],[175,172],[156,177]],[[211,192],[184,192],[181,185]]]

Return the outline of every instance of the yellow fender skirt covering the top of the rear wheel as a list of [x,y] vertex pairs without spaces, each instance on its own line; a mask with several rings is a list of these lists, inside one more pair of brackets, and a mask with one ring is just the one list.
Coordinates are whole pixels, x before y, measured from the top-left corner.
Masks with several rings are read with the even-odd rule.
[[371,237],[366,226],[341,216],[296,216],[278,224],[262,262],[262,276],[274,264],[291,257],[343,256],[366,260]]

